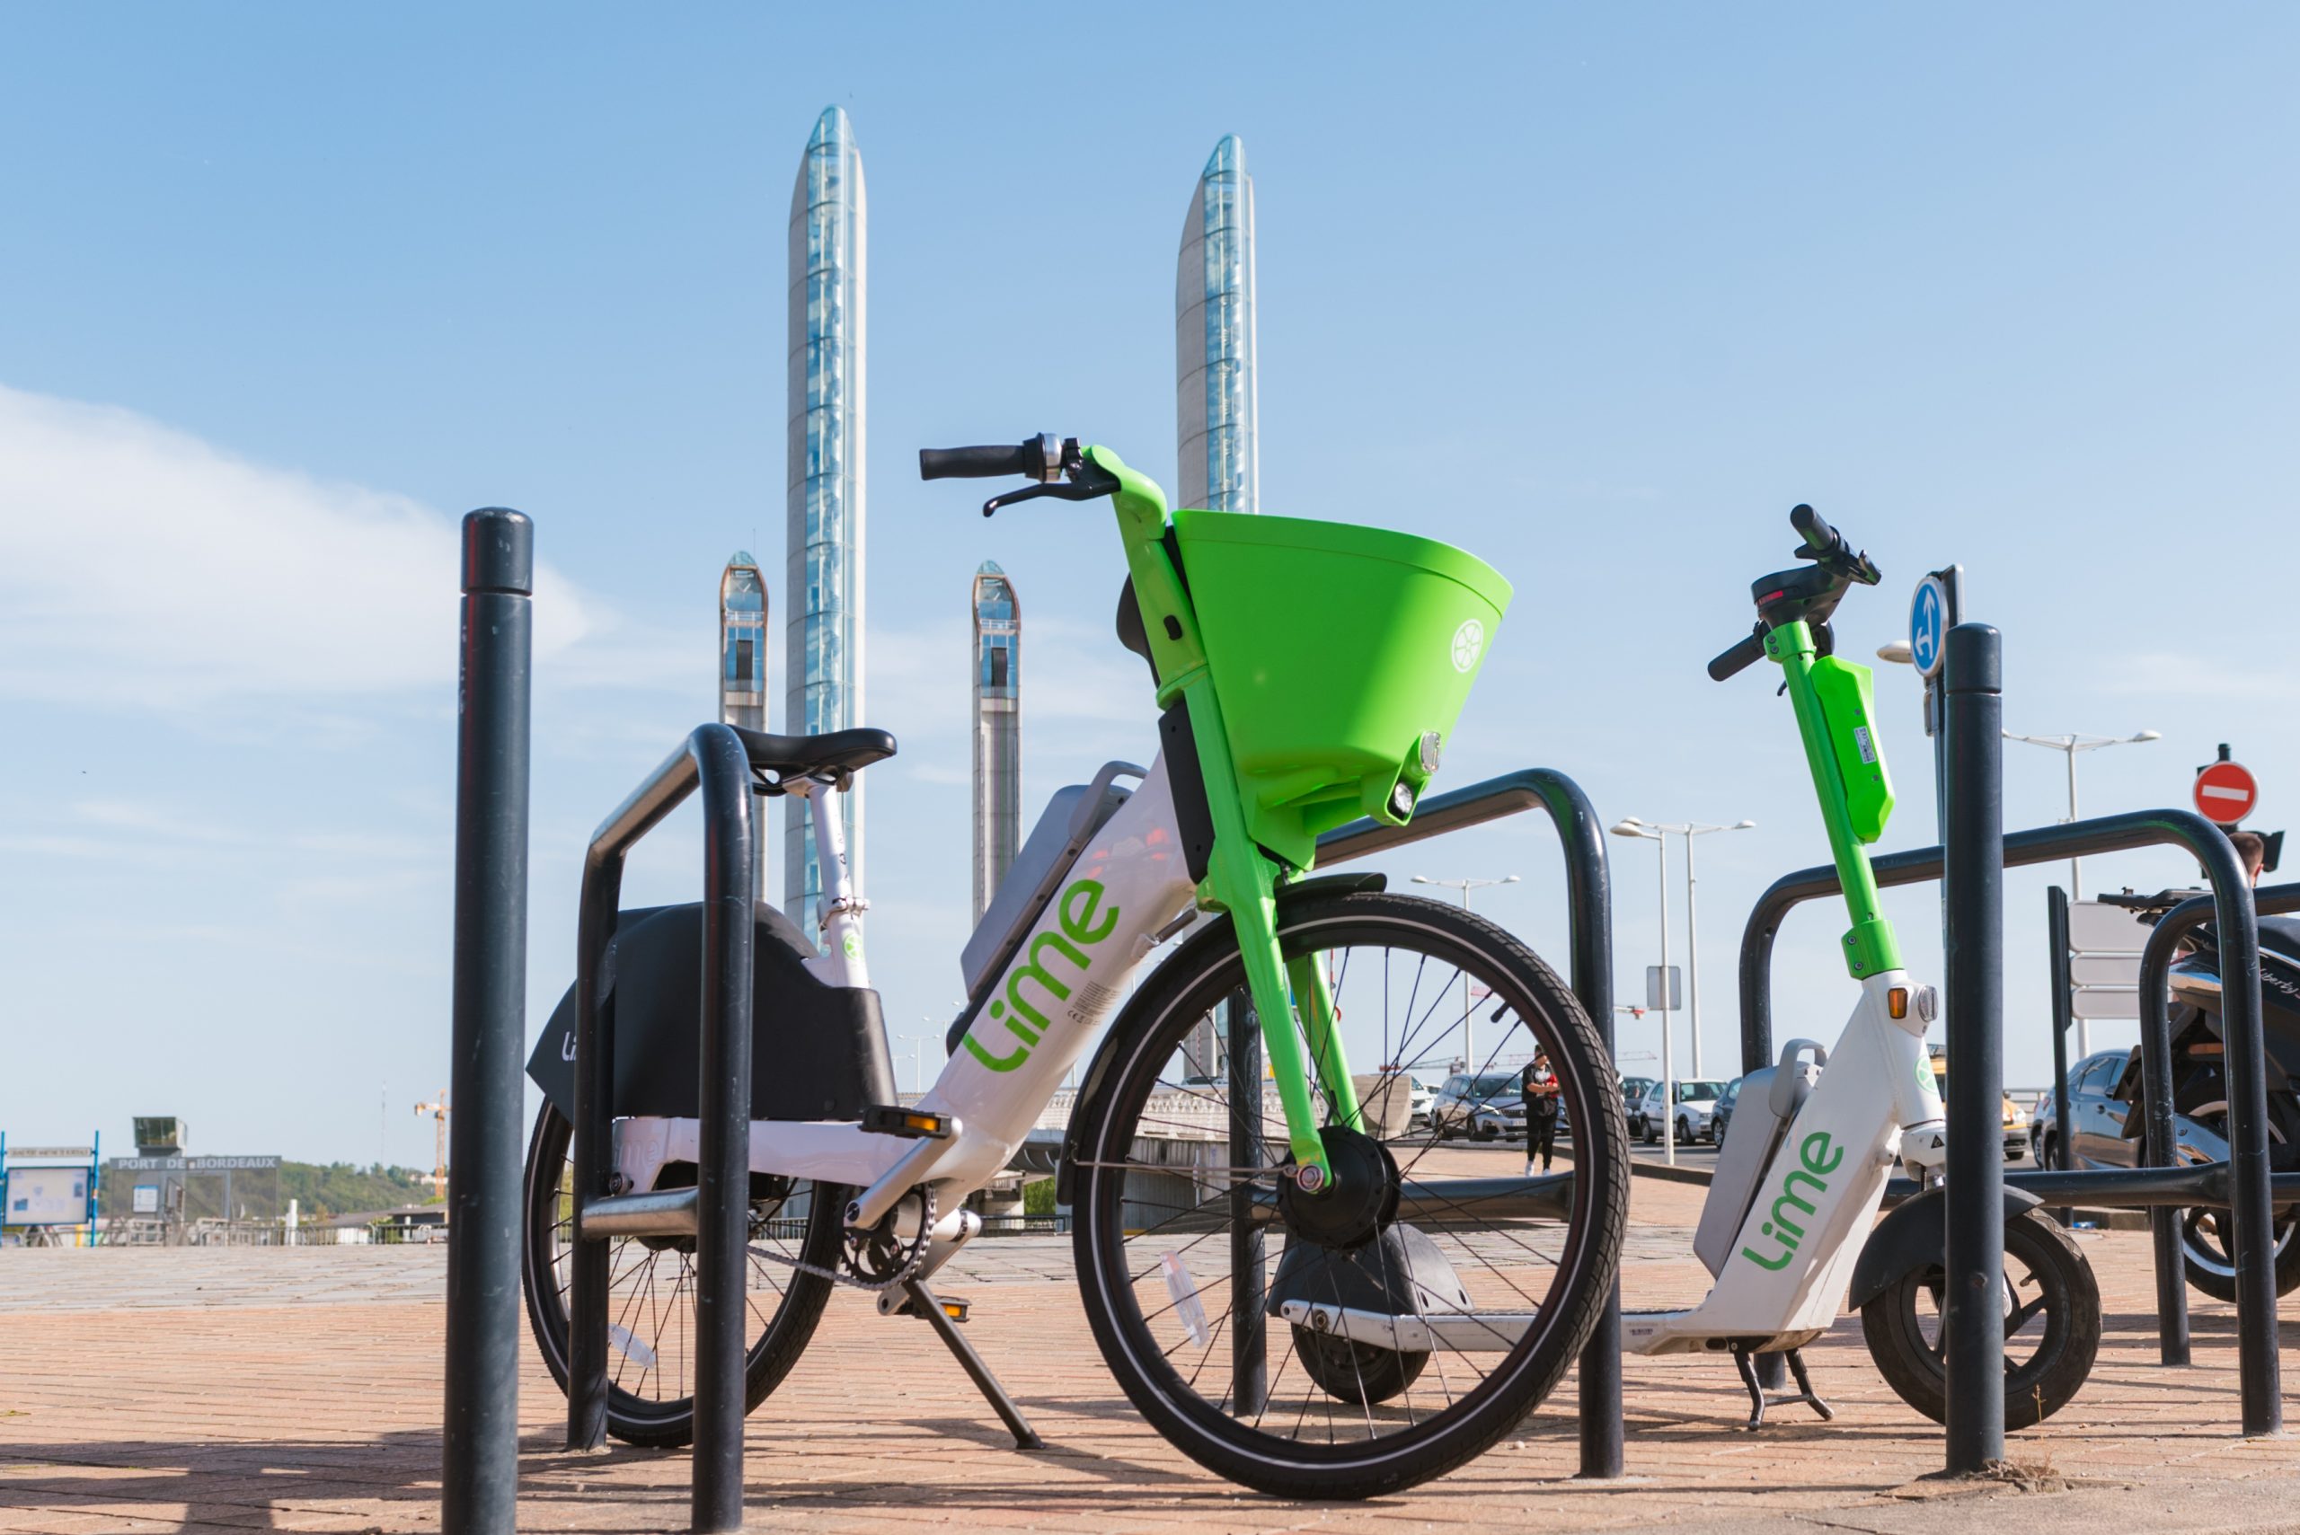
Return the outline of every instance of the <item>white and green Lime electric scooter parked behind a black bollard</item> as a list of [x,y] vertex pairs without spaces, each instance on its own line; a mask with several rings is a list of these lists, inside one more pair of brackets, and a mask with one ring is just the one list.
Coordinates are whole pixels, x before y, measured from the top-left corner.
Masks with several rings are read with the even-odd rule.
[[[1886,1381],[1939,1420],[1946,1374],[1937,1186],[1946,1144],[1925,1055],[1937,1004],[1932,988],[1902,970],[1893,924],[1877,901],[1868,846],[1893,813],[1893,784],[1872,724],[1870,671],[1833,655],[1828,630],[1838,600],[1854,584],[1874,586],[1877,568],[1810,506],[1799,506],[1789,522],[1803,538],[1796,554],[1810,563],[1753,584],[1757,625],[1709,662],[1709,676],[1723,682],[1759,659],[1780,664],[1851,917],[1842,951],[1861,1002],[1835,1048],[1792,1039],[1776,1066],[1743,1078],[1693,1241],[1716,1285],[1690,1310],[1624,1312],[1621,1344],[1635,1353],[1732,1353],[1753,1397],[1750,1427],[1766,1409],[1753,1356],[1787,1353],[1799,1383],[1787,1399],[1826,1418],[1796,1351],[1849,1298]],[[1877,1227],[1872,1243],[1895,1163],[1927,1193]],[[2100,1349],[2100,1289],[2091,1268],[2033,1204],[2015,1195],[2006,1225],[2006,1427],[2058,1411]],[[1389,1326],[1343,1308],[1322,1321],[1350,1337]]]

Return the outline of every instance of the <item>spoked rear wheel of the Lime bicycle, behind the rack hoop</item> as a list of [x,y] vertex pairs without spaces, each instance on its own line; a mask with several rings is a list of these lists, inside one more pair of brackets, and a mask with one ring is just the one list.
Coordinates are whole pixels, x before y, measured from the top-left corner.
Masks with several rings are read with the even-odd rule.
[[[559,1390],[568,1388],[568,1285],[573,1278],[573,1135],[550,1103],[527,1147],[527,1321]],[[656,1188],[695,1183],[692,1165],[662,1170]],[[743,1411],[798,1363],[830,1298],[830,1280],[787,1259],[835,1268],[849,1193],[803,1179],[750,1179],[752,1344],[743,1360]],[[784,1259],[784,1262],[775,1262]],[[695,1241],[616,1236],[607,1243],[607,1432],[632,1445],[695,1438]]]

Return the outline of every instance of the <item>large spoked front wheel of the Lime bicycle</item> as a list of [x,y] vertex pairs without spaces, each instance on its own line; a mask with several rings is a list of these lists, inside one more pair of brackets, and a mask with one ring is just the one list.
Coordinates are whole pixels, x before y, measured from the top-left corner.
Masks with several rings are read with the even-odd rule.
[[1509,1434],[1589,1340],[1628,1211],[1621,1087],[1573,993],[1460,908],[1304,896],[1279,942],[1325,970],[1352,1062],[1506,1073],[1541,1050],[1573,1124],[1571,1172],[1495,1177],[1488,1154],[1339,1124],[1318,1092],[1336,1181],[1297,1195],[1276,1092],[1254,1066],[1233,1103],[1226,1059],[1205,1059],[1247,984],[1228,921],[1111,1029],[1070,1149],[1079,1287],[1111,1374],[1201,1466],[1368,1498]]

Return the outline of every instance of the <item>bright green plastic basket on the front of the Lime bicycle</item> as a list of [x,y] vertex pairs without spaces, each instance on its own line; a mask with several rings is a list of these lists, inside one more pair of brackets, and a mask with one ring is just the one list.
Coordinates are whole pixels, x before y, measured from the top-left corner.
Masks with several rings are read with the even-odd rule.
[[1173,531],[1254,839],[1306,869],[1346,820],[1403,825],[1509,581],[1451,545],[1348,522],[1178,510]]

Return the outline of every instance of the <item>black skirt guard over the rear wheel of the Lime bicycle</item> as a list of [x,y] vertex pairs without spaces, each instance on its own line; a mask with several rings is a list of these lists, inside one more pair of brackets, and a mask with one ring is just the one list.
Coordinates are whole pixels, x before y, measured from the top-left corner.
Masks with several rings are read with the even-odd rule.
[[[614,1112],[692,1119],[702,1073],[702,905],[621,912],[600,986],[614,1006]],[[757,908],[752,961],[752,1119],[856,1119],[895,1103],[879,993],[826,986],[789,917]],[[575,986],[527,1057],[543,1096],[575,1117]]]

